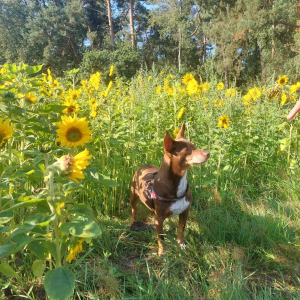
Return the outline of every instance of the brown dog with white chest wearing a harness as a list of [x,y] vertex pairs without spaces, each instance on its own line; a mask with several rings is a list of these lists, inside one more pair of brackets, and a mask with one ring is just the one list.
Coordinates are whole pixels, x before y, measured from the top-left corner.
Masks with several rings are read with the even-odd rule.
[[176,138],[172,139],[165,131],[163,139],[164,156],[158,168],[145,164],[137,169],[131,183],[132,223],[136,218],[138,198],[155,213],[155,229],[158,237],[158,256],[163,254],[163,221],[179,214],[177,242],[185,249],[183,230],[188,216],[192,196],[186,172],[190,165],[204,163],[209,152],[196,149],[190,141],[184,139],[183,123]]

